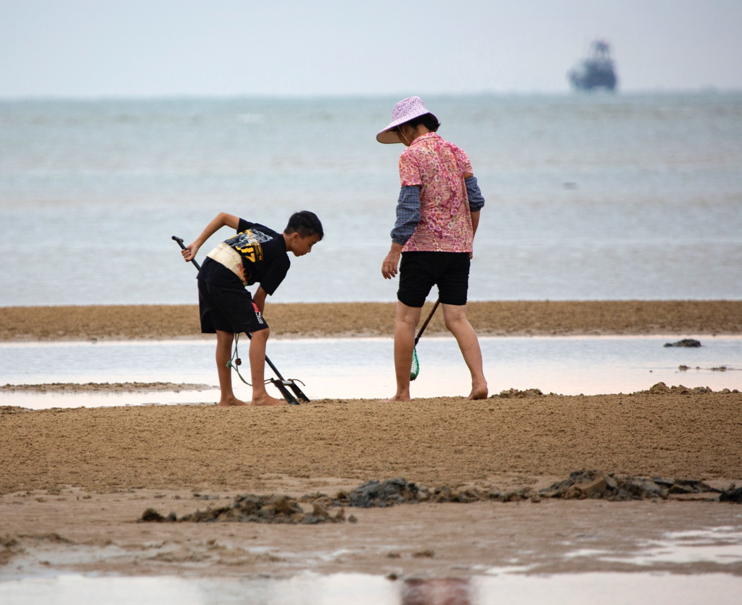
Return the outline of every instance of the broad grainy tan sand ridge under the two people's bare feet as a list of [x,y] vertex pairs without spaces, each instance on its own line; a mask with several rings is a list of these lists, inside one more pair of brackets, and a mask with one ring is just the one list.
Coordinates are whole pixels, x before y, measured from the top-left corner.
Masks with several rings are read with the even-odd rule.
[[0,494],[79,486],[111,491],[260,492],[270,475],[349,485],[430,485],[621,475],[742,478],[742,393],[668,389],[405,403],[321,400],[273,409],[131,406],[0,409]]

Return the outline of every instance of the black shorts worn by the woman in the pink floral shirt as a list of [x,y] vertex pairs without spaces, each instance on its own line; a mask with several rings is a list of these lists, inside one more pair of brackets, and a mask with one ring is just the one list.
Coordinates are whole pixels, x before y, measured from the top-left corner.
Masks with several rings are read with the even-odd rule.
[[397,300],[408,307],[421,307],[437,284],[441,303],[465,305],[470,265],[468,252],[403,252]]

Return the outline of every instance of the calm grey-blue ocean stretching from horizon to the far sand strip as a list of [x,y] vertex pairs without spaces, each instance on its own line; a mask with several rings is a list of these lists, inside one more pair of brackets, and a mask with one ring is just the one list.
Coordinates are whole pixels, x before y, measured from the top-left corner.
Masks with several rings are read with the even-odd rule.
[[[0,305],[195,303],[172,235],[301,209],[275,302],[395,300],[397,100],[0,102]],[[471,299],[742,298],[742,93],[425,101],[487,199]]]

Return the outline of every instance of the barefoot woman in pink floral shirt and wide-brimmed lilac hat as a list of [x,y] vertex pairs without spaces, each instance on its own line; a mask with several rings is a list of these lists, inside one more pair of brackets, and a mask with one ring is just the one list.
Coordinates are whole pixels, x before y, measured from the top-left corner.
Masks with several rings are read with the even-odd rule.
[[[384,279],[397,274],[393,401],[410,399],[415,329],[430,288],[438,286],[446,328],[456,337],[471,373],[469,399],[487,397],[482,351],[466,317],[472,242],[485,200],[467,154],[436,133],[439,122],[417,96],[394,106],[392,123],[376,135],[404,144],[399,158],[401,191],[392,247],[381,265]],[[400,262],[401,257],[401,262]]]

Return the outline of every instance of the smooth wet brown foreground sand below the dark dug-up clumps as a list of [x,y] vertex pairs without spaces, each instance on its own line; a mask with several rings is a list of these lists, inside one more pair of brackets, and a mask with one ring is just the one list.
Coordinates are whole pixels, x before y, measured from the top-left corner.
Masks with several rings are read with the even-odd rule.
[[136,522],[150,506],[181,515],[217,505],[234,493],[211,495],[221,500],[205,502],[191,492],[170,490],[98,494],[66,489],[0,497],[4,519],[0,581],[19,575],[48,576],[52,571],[286,578],[307,570],[404,580],[467,578],[493,567],[540,574],[742,575],[738,560],[632,562],[648,542],[660,543],[667,532],[738,527],[741,507],[734,504],[677,500],[407,504],[346,509],[358,523],[315,526]]

